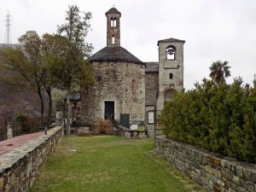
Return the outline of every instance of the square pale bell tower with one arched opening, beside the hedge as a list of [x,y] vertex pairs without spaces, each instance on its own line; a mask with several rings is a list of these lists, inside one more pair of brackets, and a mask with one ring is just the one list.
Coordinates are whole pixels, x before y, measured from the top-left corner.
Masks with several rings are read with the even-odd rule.
[[157,115],[166,101],[172,100],[177,90],[183,90],[183,45],[185,41],[167,38],[158,41],[159,46],[159,93]]

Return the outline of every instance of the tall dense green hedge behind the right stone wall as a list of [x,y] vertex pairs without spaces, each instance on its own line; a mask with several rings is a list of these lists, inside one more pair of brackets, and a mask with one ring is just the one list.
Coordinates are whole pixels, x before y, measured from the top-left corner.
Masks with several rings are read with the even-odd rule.
[[167,137],[256,162],[256,85],[219,84],[204,79],[177,93],[161,114]]

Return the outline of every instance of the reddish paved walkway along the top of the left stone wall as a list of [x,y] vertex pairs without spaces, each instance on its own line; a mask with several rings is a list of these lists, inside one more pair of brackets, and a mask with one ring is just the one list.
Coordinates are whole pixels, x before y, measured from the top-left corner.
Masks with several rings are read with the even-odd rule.
[[0,142],[0,155],[6,151],[16,148],[17,146],[20,146],[23,143],[27,143],[28,141],[42,134],[44,134],[44,131],[34,132],[31,134],[26,134],[18,137],[13,137],[11,139]]

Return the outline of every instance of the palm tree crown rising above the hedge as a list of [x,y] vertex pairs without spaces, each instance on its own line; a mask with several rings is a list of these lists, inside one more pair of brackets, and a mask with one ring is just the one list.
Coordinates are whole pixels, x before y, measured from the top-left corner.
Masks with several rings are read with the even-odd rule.
[[225,78],[230,77],[230,67],[228,66],[228,61],[215,61],[212,62],[210,68],[210,77],[217,83],[226,82]]

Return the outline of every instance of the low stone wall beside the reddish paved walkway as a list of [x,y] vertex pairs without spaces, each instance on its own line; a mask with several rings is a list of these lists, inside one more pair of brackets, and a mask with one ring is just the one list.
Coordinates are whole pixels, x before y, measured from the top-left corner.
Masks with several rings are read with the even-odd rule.
[[21,192],[32,186],[40,166],[62,137],[61,126],[0,155],[0,191]]

